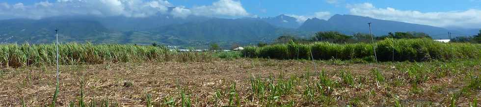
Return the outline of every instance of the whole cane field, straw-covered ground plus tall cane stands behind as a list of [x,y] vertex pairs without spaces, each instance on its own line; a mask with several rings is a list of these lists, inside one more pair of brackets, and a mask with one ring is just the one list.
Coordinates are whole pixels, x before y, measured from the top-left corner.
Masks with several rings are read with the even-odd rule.
[[[358,64],[373,61],[374,47],[369,43],[291,41],[231,52],[178,52],[156,44],[67,43],[59,45],[62,79],[56,88],[60,90],[53,93],[45,88],[53,87],[48,81],[53,79],[48,71],[53,70],[48,66],[55,64],[54,45],[5,44],[0,45],[0,79],[4,80],[0,85],[5,86],[0,87],[0,94],[7,96],[0,98],[6,102],[0,106],[477,107],[480,44],[386,39],[374,45],[380,61],[413,62],[381,62],[380,67]],[[230,61],[242,56],[301,60]],[[213,61],[218,58],[226,60]],[[151,62],[162,64],[149,65]],[[318,69],[316,63],[320,62],[324,65]],[[311,63],[313,66],[307,65]],[[44,89],[23,93],[38,87]],[[124,96],[126,93],[129,96]],[[26,97],[31,94],[43,99]]]

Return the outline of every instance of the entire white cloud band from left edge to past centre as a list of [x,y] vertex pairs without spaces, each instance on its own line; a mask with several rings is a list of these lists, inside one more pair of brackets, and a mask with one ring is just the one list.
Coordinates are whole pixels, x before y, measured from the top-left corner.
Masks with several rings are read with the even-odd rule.
[[[168,13],[169,7],[175,7]],[[56,0],[41,1],[31,5],[0,3],[0,19],[41,19],[64,15],[95,15],[148,17],[156,14],[171,14],[175,18],[197,16],[237,17],[250,15],[237,0],[219,0],[212,5],[186,8],[175,6],[167,0]]]

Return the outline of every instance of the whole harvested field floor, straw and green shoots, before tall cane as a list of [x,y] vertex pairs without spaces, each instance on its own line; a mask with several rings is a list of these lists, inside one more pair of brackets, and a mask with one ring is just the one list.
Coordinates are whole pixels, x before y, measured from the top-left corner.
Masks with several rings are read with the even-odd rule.
[[56,100],[54,66],[2,68],[0,94],[7,96],[0,106],[477,107],[480,101],[479,59],[381,62],[379,70],[329,62],[338,61],[61,65]]

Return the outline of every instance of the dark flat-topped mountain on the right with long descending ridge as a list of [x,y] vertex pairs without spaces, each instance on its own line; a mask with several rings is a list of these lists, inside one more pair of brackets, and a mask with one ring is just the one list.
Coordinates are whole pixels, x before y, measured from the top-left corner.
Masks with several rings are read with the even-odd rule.
[[[376,36],[387,35],[389,32],[424,32],[430,35],[444,34],[448,32],[457,32],[441,27],[429,25],[414,24],[400,21],[378,20],[369,17],[354,15],[334,15],[329,20],[309,19],[305,21],[298,29],[301,31],[339,31],[347,35],[354,33],[369,33],[368,22],[372,22],[373,34]],[[447,36],[434,36],[434,39],[444,38]]]

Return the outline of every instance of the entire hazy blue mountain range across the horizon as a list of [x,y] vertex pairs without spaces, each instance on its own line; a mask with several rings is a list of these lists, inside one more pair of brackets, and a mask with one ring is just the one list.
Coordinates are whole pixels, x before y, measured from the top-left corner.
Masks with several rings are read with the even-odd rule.
[[53,29],[59,28],[59,39],[62,42],[160,43],[183,46],[200,46],[211,42],[247,44],[270,42],[286,34],[309,38],[317,31],[339,31],[347,35],[369,33],[368,22],[373,23],[373,33],[376,36],[388,32],[416,31],[428,33],[434,39],[447,39],[446,35],[437,34],[476,34],[479,30],[449,30],[354,15],[334,15],[329,20],[313,18],[303,23],[286,15],[240,19],[201,16],[174,18],[171,15],[146,18],[65,16],[41,20],[0,20],[0,42],[52,43]]

